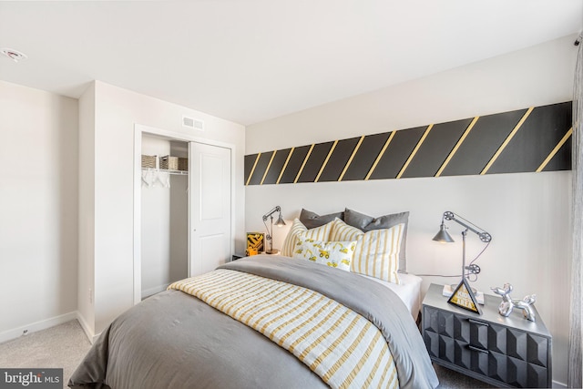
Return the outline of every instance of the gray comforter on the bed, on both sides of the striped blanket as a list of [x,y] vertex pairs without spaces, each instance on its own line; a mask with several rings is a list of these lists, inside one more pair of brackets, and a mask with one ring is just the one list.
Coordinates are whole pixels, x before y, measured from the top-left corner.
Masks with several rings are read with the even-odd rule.
[[[435,388],[421,334],[389,289],[310,261],[254,256],[222,265],[290,282],[359,312],[383,333],[404,388]],[[179,291],[156,294],[101,333],[68,385],[73,388],[319,388],[318,375],[261,333]]]

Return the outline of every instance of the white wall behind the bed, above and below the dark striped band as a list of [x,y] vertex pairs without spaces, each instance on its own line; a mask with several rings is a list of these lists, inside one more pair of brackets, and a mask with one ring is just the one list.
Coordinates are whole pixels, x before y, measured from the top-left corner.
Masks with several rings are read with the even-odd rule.
[[[274,118],[247,128],[247,154],[303,146],[394,129],[472,118],[572,99],[576,48],[567,36],[435,76]],[[553,377],[567,382],[568,269],[570,261],[568,172],[501,174],[439,179],[385,179],[246,187],[246,230],[264,230],[261,215],[281,205],[285,219],[302,208],[324,214],[344,207],[372,216],[409,210],[408,270],[456,274],[461,266],[461,229],[456,243],[431,241],[445,210],[489,231],[493,241],[477,263],[475,286],[510,282],[513,297],[537,293],[537,310],[553,334]],[[277,230],[281,248],[287,229]],[[468,236],[468,257],[481,248]],[[429,283],[451,279],[424,277]]]

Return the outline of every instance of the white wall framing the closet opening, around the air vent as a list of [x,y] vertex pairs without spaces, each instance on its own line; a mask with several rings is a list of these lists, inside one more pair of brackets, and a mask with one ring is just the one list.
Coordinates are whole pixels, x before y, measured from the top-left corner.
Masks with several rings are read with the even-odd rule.
[[[90,93],[90,92],[89,92]],[[245,128],[201,112],[95,82],[95,333],[133,304],[134,125],[235,145],[235,229],[244,247],[243,155]],[[205,121],[183,128],[182,116]],[[80,261],[91,261],[81,258]],[[80,291],[82,294],[87,291]]]

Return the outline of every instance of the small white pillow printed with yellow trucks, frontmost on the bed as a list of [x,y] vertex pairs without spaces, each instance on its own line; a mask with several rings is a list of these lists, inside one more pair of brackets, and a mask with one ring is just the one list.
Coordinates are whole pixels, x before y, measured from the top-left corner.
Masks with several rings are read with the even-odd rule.
[[355,249],[356,241],[315,241],[310,238],[300,238],[293,251],[293,258],[350,271]]

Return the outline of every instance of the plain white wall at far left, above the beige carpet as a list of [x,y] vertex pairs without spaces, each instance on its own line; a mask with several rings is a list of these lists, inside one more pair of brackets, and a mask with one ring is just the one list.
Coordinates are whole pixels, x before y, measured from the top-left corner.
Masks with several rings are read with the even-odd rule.
[[0,81],[0,342],[75,318],[77,100]]

